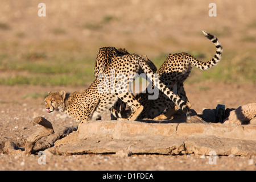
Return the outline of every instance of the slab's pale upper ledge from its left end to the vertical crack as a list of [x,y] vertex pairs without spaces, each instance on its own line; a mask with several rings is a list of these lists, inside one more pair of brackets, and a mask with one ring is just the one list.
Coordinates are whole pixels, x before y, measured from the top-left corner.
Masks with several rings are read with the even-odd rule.
[[[146,123],[127,121],[92,121],[81,125],[79,139],[161,137],[176,133],[177,123]],[[168,127],[167,127],[168,126]]]

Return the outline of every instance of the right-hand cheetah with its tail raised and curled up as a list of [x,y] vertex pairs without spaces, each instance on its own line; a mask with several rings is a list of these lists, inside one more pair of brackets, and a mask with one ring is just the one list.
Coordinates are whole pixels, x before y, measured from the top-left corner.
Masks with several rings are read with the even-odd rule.
[[[207,70],[214,67],[221,60],[222,56],[222,46],[216,36],[206,31],[203,31],[203,34],[216,46],[216,53],[211,60],[207,62],[199,61],[188,53],[170,54],[157,72],[163,84],[177,94],[189,109],[191,108],[191,104],[185,94],[183,82],[191,73],[192,65],[201,70]],[[139,115],[138,119],[150,118],[161,121],[170,119],[174,113],[181,114],[179,111],[176,112],[177,106],[174,102],[170,101],[170,98],[166,97],[161,92],[159,92],[157,100],[148,100],[148,93],[140,93],[135,98],[144,106],[144,110]],[[118,118],[129,115],[129,110],[117,111],[112,109],[111,111],[113,115]]]

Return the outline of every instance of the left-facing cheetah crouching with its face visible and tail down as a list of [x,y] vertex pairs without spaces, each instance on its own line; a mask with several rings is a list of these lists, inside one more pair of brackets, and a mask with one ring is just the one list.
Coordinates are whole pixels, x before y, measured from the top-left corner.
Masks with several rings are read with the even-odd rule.
[[139,104],[133,94],[128,92],[129,81],[138,75],[136,73],[140,69],[154,82],[156,88],[164,92],[187,114],[187,117],[190,117],[191,111],[185,102],[158,80],[158,77],[154,76],[154,72],[141,56],[134,54],[116,56],[88,89],[73,93],[66,93],[64,90],[49,92],[44,100],[46,111],[51,113],[55,109],[59,109],[65,114],[71,115],[76,121],[79,121],[80,129],[82,123],[101,117],[101,114],[109,110],[120,98],[131,109],[127,120],[134,121],[141,114],[143,106]]

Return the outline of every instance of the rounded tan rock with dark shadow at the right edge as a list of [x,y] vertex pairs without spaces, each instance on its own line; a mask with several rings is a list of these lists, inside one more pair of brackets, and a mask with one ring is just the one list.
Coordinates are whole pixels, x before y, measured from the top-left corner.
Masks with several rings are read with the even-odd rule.
[[255,116],[256,103],[246,104],[238,107],[236,110],[230,111],[230,115],[224,120],[224,123],[246,125],[249,124],[250,120]]

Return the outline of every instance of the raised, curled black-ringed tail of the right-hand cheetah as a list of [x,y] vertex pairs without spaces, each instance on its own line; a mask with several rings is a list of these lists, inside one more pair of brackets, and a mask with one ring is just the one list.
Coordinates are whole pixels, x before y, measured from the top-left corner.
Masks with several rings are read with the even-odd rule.
[[208,38],[210,41],[214,43],[214,45],[216,46],[216,53],[214,57],[209,61],[203,62],[196,59],[192,59],[191,64],[194,65],[196,68],[205,70],[214,67],[218,62],[220,62],[223,50],[221,43],[218,41],[215,35],[211,35],[207,31],[203,31],[203,34],[206,38]]

